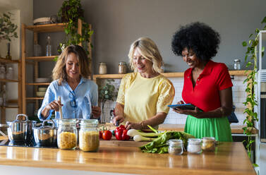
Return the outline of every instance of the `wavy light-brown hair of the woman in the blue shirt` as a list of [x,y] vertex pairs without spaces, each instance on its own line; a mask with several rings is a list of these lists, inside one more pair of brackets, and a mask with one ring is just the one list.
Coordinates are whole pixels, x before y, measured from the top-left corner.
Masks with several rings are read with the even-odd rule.
[[66,59],[71,53],[77,56],[80,76],[83,76],[83,78],[90,78],[90,62],[85,50],[79,45],[70,45],[60,54],[59,59],[56,62],[56,66],[54,66],[53,69],[52,78],[53,80],[59,80],[59,85],[61,85],[63,80],[67,80],[68,78],[66,73]]

